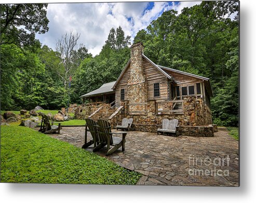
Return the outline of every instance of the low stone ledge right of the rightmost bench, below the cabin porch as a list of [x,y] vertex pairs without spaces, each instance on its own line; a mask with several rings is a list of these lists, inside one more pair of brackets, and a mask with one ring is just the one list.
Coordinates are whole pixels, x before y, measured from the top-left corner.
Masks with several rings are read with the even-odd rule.
[[177,136],[213,137],[213,126],[178,126]]

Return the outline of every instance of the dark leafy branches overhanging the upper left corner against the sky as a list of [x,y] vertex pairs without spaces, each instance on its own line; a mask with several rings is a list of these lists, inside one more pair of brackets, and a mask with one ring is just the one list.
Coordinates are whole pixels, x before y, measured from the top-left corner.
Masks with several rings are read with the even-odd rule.
[[49,30],[47,6],[48,4],[1,4],[0,44],[16,44],[20,47],[32,45],[35,33],[44,34]]

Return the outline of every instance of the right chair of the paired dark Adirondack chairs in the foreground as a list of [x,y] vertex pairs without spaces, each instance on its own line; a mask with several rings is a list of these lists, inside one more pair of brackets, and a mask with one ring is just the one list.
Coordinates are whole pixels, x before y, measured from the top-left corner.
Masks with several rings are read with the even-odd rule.
[[[107,147],[106,156],[114,153],[118,148],[122,147],[125,151],[125,137],[127,132],[111,132],[111,124],[105,120],[98,120],[97,133],[99,136],[99,145],[93,151],[100,150],[104,146]],[[122,134],[122,138],[113,137],[113,134]],[[110,148],[110,146],[113,146]]]

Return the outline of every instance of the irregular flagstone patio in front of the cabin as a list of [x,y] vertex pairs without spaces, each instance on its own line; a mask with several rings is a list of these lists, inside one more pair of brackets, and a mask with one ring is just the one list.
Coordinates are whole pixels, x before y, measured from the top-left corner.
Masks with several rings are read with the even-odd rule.
[[[214,137],[128,132],[124,152],[120,148],[105,156],[106,149],[101,149],[97,154],[142,173],[138,185],[238,186],[238,141],[226,128],[218,130]],[[83,146],[84,135],[84,127],[63,127],[61,134],[50,134],[77,147]],[[92,152],[92,146],[86,150]]]

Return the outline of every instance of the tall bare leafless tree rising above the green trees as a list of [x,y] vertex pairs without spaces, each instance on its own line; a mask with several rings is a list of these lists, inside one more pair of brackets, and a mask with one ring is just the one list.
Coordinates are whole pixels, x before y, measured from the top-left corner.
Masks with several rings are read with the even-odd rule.
[[57,72],[57,74],[63,79],[65,89],[69,81],[69,75],[75,68],[72,64],[72,53],[75,51],[79,37],[80,34],[71,31],[70,34],[66,33],[62,35],[61,39],[58,39],[56,44],[56,51],[61,54],[61,60],[64,67],[63,74],[60,72]]

